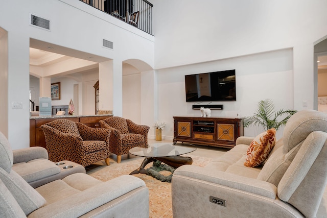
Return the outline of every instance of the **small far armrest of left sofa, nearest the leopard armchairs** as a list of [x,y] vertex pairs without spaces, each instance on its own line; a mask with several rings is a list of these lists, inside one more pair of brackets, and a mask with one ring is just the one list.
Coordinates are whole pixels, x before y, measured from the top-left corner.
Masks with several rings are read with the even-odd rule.
[[12,151],[14,156],[13,163],[29,162],[39,158],[48,159],[48,151],[42,147],[31,147],[25,149],[17,149]]

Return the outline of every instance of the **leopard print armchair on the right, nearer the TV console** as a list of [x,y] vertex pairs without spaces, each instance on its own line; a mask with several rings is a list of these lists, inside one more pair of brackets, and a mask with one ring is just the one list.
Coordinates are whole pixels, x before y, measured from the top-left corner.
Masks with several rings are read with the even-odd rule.
[[101,128],[111,130],[109,151],[117,155],[117,162],[120,163],[122,155],[134,147],[148,148],[148,132],[150,127],[138,125],[130,119],[119,116],[112,116],[100,120]]

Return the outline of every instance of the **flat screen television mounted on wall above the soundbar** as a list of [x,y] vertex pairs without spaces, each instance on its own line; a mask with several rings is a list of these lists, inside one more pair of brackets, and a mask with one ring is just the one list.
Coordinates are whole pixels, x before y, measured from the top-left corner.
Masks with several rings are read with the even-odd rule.
[[236,101],[235,69],[185,75],[186,102]]

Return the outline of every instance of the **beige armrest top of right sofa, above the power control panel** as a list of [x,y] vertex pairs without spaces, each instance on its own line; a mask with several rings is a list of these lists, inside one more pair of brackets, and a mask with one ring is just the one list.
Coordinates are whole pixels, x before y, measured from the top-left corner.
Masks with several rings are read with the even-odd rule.
[[222,171],[214,171],[211,168],[195,165],[183,165],[175,170],[172,182],[174,182],[174,177],[186,177],[195,179],[195,181],[200,180],[203,182],[223,185],[270,199],[276,199],[277,197],[277,187],[269,182]]

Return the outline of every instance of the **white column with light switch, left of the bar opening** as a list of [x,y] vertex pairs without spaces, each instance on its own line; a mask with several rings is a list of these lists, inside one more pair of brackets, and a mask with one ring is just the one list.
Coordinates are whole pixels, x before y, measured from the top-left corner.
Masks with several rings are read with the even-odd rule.
[[[8,140],[12,149],[30,146],[29,45],[28,35],[8,34]],[[22,108],[12,107],[13,102]]]

